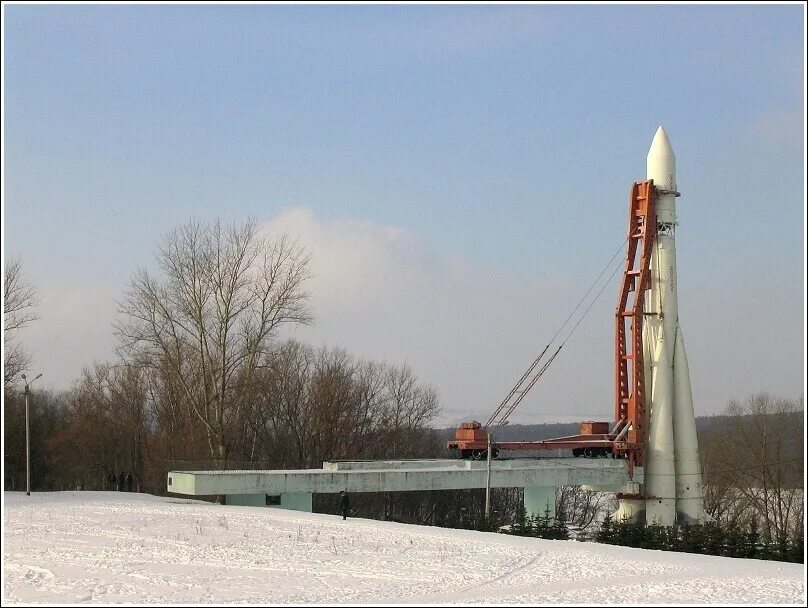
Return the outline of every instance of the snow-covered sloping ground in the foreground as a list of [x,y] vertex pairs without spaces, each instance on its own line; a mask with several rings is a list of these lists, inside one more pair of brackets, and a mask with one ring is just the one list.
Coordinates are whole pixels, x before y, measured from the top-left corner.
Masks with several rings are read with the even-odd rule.
[[804,568],[116,492],[4,494],[3,599],[791,603]]

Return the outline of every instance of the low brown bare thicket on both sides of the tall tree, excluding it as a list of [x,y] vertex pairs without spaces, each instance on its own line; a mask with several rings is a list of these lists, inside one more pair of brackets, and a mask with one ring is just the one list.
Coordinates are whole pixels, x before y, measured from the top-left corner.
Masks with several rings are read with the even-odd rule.
[[[409,367],[361,361],[339,349],[283,342],[262,359],[254,398],[211,458],[202,420],[167,376],[148,367],[96,364],[74,387],[34,392],[32,489],[102,490],[110,471],[164,494],[171,469],[312,468],[324,460],[434,456],[434,389]],[[5,485],[25,483],[25,407],[5,401]]]

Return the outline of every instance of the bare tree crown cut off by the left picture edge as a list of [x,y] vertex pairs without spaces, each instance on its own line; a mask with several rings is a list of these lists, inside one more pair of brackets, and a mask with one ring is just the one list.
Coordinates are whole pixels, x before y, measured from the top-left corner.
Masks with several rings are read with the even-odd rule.
[[17,331],[37,320],[39,293],[36,285],[25,281],[19,259],[7,259],[3,280],[3,387],[24,371],[30,362],[21,344],[12,343]]

